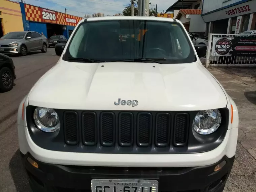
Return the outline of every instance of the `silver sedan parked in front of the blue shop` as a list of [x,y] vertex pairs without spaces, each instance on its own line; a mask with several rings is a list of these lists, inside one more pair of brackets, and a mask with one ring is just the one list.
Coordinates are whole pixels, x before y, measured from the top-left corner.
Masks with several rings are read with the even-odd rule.
[[45,36],[34,31],[10,32],[0,38],[0,53],[21,54],[30,51],[47,52],[48,41]]

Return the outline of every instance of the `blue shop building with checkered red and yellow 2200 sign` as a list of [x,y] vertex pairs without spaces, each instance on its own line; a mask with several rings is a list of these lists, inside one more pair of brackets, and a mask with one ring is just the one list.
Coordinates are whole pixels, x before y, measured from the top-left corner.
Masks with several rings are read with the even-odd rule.
[[47,38],[64,35],[67,39],[82,17],[20,3],[24,31],[43,33]]

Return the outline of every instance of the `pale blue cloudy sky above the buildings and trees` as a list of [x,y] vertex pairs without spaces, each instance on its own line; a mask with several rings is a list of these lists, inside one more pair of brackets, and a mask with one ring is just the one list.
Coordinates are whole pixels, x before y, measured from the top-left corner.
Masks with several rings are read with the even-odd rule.
[[[21,0],[13,0],[20,1]],[[150,0],[150,8],[158,5],[158,12],[166,10],[177,0]],[[106,15],[113,15],[122,13],[124,7],[131,3],[130,0],[23,0],[24,3],[35,6],[52,9],[59,12],[65,12],[79,17],[84,17],[85,14],[92,15],[93,13],[104,13]]]

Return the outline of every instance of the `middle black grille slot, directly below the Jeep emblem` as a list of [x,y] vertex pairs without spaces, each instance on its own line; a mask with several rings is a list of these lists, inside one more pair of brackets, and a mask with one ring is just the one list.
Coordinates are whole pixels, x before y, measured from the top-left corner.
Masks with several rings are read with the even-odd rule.
[[133,141],[133,114],[129,112],[122,112],[119,115],[119,145],[129,147]]

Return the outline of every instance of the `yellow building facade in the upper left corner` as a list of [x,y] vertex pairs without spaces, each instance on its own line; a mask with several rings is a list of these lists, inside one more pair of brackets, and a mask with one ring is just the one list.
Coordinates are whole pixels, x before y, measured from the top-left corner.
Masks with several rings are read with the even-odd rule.
[[0,0],[0,37],[13,31],[23,31],[20,4],[9,0]]

